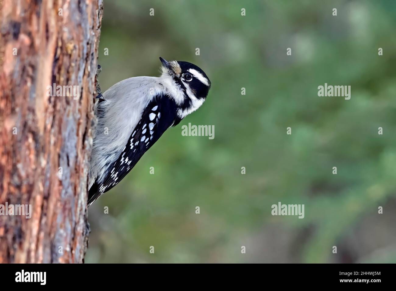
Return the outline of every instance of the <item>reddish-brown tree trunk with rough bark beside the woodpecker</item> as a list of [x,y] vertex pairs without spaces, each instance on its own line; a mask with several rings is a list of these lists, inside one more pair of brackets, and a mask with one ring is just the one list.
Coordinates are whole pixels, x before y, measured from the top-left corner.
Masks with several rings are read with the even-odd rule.
[[[0,206],[32,207],[30,219],[0,212],[0,263],[84,261],[102,11],[0,0]],[[48,96],[53,84],[79,93]]]

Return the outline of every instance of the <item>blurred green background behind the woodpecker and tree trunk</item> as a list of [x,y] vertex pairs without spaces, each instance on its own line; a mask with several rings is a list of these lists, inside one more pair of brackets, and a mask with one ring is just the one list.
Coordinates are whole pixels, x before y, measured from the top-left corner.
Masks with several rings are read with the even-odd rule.
[[[212,87],[89,208],[86,262],[396,262],[395,27],[393,0],[105,0],[103,91],[158,76],[160,56]],[[318,97],[324,83],[351,99]],[[189,122],[215,138],[182,136]],[[278,202],[305,218],[272,216]]]

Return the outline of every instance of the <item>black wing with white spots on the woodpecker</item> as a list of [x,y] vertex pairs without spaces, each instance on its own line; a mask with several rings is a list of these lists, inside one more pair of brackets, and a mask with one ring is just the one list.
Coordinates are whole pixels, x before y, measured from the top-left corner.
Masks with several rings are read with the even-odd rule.
[[120,156],[107,170],[103,182],[98,184],[95,181],[89,189],[88,206],[118,184],[166,129],[180,122],[176,110],[175,102],[166,95],[157,95],[150,101]]

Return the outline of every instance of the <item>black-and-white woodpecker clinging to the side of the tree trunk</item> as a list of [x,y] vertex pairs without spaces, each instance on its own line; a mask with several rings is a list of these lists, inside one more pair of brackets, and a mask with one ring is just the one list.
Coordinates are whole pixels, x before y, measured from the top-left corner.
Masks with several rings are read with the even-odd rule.
[[160,61],[159,77],[128,78],[104,93],[97,86],[88,206],[118,184],[169,127],[200,108],[208,95],[211,82],[199,67],[162,57]]

